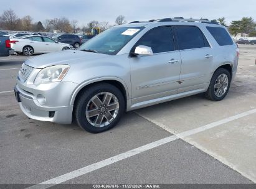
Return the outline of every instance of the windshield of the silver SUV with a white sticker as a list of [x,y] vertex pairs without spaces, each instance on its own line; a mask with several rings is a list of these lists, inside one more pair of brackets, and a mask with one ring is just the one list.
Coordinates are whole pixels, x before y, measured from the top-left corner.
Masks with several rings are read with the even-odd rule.
[[144,27],[113,27],[88,40],[78,50],[116,55]]

